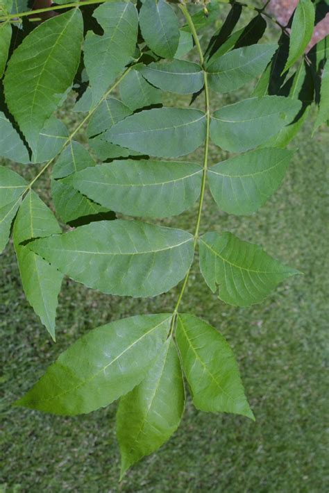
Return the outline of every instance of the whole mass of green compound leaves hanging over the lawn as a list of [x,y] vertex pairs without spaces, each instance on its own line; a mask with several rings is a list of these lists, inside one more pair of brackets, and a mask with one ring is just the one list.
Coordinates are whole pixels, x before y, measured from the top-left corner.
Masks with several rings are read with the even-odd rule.
[[[0,0],[0,249],[12,231],[42,324],[55,340],[63,276],[119,296],[156,296],[184,280],[171,313],[95,328],[17,401],[77,415],[121,398],[121,474],[178,427],[183,375],[199,410],[253,419],[224,337],[180,313],[196,249],[205,283],[235,306],[259,303],[298,274],[233,233],[201,235],[201,212],[205,187],[228,214],[257,212],[282,183],[293,153],[285,148],[313,102],[315,128],[328,122],[328,38],[305,52],[324,3],[300,0],[271,44],[264,33],[278,22],[267,10],[253,8],[244,25],[248,6],[225,3],[58,2],[50,19],[32,22],[27,6]],[[248,98],[213,108],[212,92],[253,82]],[[70,133],[56,110],[71,92],[81,122]],[[164,92],[191,95],[192,107],[164,107]],[[194,107],[202,96],[204,110]],[[210,141],[235,155],[208,162]],[[181,159],[201,146],[203,163]],[[40,170],[27,183],[10,161]],[[33,190],[48,170],[55,213]],[[196,201],[194,230],[155,222]]]

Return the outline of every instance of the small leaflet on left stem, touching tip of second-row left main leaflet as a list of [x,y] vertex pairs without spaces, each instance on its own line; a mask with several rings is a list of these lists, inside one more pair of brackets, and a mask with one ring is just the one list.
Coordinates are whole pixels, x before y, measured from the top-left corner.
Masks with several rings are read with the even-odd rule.
[[94,112],[94,115],[92,115],[87,126],[88,137],[105,132],[112,125],[131,115],[131,113],[130,108],[124,105],[124,103],[121,103],[119,99],[112,97],[104,99],[99,105],[99,108]]

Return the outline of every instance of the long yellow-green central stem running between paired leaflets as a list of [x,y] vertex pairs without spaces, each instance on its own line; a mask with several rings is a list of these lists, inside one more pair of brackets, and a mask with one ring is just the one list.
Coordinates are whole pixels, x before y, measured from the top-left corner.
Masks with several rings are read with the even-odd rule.
[[[205,147],[204,147],[204,154],[203,154],[203,173],[202,173],[202,180],[201,180],[199,209],[198,209],[198,215],[196,217],[196,225],[195,225],[195,229],[194,229],[194,251],[195,251],[196,244],[198,243],[198,239],[199,239],[199,229],[200,229],[200,224],[201,224],[203,201],[205,198],[205,182],[206,182],[207,172],[208,172],[208,149],[209,149],[209,140],[210,140],[210,97],[209,97],[207,72],[205,72],[205,67],[204,67],[203,52],[202,52],[201,45],[199,42],[199,37],[196,33],[196,28],[193,24],[192,17],[189,15],[189,12],[188,12],[185,4],[180,3],[179,8],[180,8],[180,10],[182,10],[183,15],[187,21],[187,24],[189,25],[189,28],[191,29],[191,33],[192,33],[192,36],[194,38],[194,42],[196,44],[196,49],[198,50],[198,53],[199,53],[201,67],[203,69],[203,80],[204,80],[204,86],[205,86],[206,131],[205,131]],[[174,333],[174,328],[176,325],[176,318],[177,318],[177,314],[178,314],[178,308],[180,306],[180,302],[183,299],[183,294],[184,294],[185,289],[187,287],[187,281],[189,280],[190,272],[191,272],[191,267],[189,267],[189,270],[187,271],[183,285],[180,289],[180,294],[178,295],[178,299],[177,299],[177,302],[176,302],[176,305],[174,308],[173,316],[171,318],[171,326],[170,326],[170,333],[169,333],[170,335],[172,333]]]

